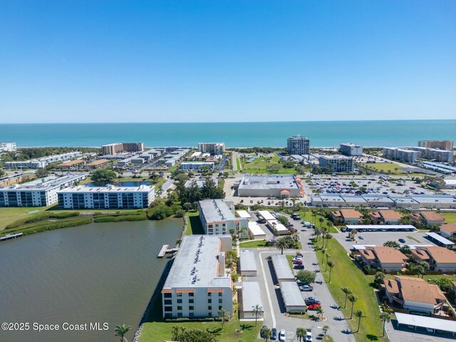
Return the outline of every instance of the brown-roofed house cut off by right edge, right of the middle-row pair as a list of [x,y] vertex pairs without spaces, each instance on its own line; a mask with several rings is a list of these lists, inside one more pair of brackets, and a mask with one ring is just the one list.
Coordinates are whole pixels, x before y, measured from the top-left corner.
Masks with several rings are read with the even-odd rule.
[[456,253],[445,247],[415,247],[411,251],[413,259],[426,261],[431,271],[456,271]]

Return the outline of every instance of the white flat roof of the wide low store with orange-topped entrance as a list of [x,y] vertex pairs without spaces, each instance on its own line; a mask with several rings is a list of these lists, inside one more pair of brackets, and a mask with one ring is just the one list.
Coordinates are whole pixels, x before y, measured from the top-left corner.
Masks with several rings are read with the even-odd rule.
[[244,175],[239,189],[299,190],[293,175]]

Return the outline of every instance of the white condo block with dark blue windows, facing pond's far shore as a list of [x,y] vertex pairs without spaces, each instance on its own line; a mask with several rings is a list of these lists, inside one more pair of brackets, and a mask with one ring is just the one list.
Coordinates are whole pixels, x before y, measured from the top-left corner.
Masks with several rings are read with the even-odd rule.
[[139,209],[155,199],[154,187],[70,187],[59,191],[60,209]]

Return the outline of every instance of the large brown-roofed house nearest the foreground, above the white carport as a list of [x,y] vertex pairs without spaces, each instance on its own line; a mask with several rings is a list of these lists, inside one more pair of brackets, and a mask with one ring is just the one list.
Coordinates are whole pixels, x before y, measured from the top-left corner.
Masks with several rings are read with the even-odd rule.
[[436,314],[447,300],[439,286],[421,278],[395,276],[394,280],[383,279],[383,285],[390,304],[410,311]]

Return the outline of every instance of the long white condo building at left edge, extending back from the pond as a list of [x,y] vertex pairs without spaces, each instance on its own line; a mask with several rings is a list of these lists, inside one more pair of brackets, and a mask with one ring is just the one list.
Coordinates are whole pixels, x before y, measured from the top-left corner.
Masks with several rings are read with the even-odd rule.
[[58,201],[57,192],[81,180],[86,174],[46,177],[25,184],[0,187],[0,207],[47,207]]

